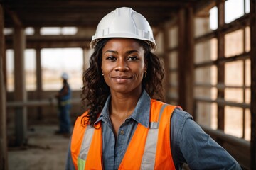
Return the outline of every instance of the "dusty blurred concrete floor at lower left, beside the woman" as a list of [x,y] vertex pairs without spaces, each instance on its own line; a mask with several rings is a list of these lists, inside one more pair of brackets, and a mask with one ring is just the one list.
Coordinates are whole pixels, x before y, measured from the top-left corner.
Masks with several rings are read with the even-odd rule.
[[69,137],[55,135],[58,125],[33,125],[28,130],[28,146],[9,148],[9,170],[65,169]]

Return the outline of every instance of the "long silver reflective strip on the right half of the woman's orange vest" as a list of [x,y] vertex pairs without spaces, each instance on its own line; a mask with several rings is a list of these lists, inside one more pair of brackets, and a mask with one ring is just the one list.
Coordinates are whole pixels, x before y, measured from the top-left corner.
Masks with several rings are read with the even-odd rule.
[[149,132],[146,137],[146,145],[145,145],[144,154],[142,157],[141,169],[146,169],[146,170],[154,169],[154,164],[156,160],[156,145],[157,145],[158,132],[159,132],[159,122],[161,119],[161,115],[164,111],[164,108],[166,108],[166,106],[167,104],[164,104],[163,106],[161,106],[158,122],[152,122],[149,124]]

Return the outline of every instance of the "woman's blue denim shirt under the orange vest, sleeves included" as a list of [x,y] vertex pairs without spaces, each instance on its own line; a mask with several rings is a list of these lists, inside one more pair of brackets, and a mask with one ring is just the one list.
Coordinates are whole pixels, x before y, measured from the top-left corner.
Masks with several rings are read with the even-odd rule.
[[[118,169],[138,123],[146,128],[149,127],[151,102],[149,95],[143,91],[134,113],[122,123],[115,139],[110,121],[110,100],[111,96],[107,98],[96,122],[102,122],[102,159],[105,170]],[[182,169],[184,163],[188,164],[190,169],[241,169],[238,162],[223,147],[203,132],[191,115],[178,108],[171,117],[171,154],[176,169]],[[66,169],[75,169],[70,149],[68,149]]]

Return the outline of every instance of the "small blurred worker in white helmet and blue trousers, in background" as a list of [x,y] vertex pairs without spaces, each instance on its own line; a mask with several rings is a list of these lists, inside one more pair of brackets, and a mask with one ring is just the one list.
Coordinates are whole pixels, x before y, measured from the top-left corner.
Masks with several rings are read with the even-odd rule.
[[71,89],[68,84],[68,74],[63,73],[61,78],[63,79],[63,87],[60,89],[56,98],[58,100],[58,117],[59,117],[59,130],[55,134],[70,134],[70,98]]

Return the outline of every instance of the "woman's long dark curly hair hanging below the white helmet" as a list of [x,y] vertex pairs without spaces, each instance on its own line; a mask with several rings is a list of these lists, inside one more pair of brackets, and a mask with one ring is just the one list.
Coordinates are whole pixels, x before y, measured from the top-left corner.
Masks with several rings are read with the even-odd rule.
[[[82,125],[94,125],[110,95],[110,88],[102,77],[101,69],[102,48],[110,39],[105,38],[97,42],[95,51],[90,57],[90,67],[82,75],[82,103],[87,106],[87,115],[82,118]],[[148,43],[142,40],[137,41],[144,48],[144,60],[147,67],[146,77],[142,80],[142,89],[145,89],[151,98],[164,100],[162,94],[164,69],[161,60],[150,51]]]

